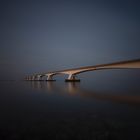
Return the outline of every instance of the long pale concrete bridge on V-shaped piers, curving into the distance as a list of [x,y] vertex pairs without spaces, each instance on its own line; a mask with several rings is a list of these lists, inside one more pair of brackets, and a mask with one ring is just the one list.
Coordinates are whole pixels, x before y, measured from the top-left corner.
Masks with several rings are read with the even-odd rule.
[[68,79],[65,80],[66,82],[79,82],[80,79],[76,78],[78,74],[105,69],[140,69],[140,59],[34,74],[25,77],[25,80],[40,81],[43,77],[47,77],[46,81],[55,81],[53,76],[66,74],[68,75]]

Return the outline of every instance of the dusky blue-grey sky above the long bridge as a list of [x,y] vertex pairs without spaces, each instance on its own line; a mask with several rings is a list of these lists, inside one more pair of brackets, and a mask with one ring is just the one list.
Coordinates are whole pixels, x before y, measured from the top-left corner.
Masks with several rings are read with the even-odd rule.
[[140,58],[140,2],[1,0],[0,80]]

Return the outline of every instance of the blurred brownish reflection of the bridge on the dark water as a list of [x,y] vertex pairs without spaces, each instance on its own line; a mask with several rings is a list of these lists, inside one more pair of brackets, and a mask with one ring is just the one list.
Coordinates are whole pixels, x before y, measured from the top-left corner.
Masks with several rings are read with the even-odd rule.
[[140,105],[140,96],[134,95],[114,95],[112,93],[98,93],[95,91],[88,91],[80,87],[80,83],[70,82],[63,86],[54,82],[31,81],[31,87],[35,90],[45,91],[47,94],[57,93],[60,96],[79,96],[81,98],[105,100],[118,103],[125,103],[131,105]]

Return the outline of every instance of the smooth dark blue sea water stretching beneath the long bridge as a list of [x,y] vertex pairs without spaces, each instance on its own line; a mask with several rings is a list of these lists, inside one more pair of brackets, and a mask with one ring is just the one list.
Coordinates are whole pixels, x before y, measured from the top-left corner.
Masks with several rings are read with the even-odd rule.
[[139,70],[55,78],[0,82],[1,140],[140,139]]

